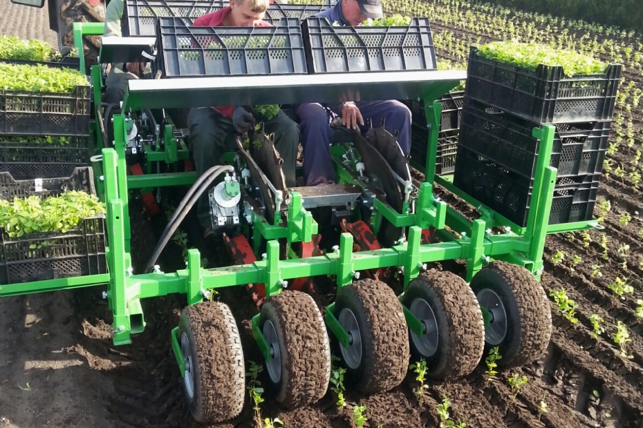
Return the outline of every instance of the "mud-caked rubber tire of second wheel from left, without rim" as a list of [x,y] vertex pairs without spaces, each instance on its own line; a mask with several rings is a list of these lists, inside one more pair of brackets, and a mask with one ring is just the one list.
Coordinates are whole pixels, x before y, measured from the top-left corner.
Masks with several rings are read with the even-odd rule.
[[300,291],[272,295],[261,307],[262,331],[267,320],[277,333],[281,353],[279,382],[266,376],[274,399],[288,409],[314,404],[330,382],[330,342],[315,300]]

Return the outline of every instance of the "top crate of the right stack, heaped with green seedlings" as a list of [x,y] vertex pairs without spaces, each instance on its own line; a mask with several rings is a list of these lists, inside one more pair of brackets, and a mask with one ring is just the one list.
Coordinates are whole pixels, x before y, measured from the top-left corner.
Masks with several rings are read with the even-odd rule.
[[622,66],[516,41],[472,46],[467,97],[541,124],[612,118]]

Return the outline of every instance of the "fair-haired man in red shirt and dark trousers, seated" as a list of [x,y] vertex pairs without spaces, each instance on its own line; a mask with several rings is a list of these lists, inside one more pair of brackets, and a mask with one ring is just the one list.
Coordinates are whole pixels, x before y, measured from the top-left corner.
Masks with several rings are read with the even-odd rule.
[[[263,21],[268,0],[230,0],[230,6],[205,14],[194,21],[201,27],[268,27]],[[196,173],[201,176],[220,163],[226,150],[234,150],[235,133],[244,133],[255,123],[254,117],[243,107],[192,108],[187,116],[189,148],[194,157]],[[265,121],[266,133],[274,133],[274,142],[283,159],[286,186],[295,186],[295,164],[299,146],[299,125],[279,110],[276,117]],[[205,237],[213,234],[207,193],[198,200],[197,217],[205,229]]]

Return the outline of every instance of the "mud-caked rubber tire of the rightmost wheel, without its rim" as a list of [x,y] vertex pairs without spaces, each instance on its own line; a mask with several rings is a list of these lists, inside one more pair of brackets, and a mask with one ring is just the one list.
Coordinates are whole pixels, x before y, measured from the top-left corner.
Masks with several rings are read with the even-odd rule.
[[[545,290],[527,269],[507,262],[492,262],[471,282],[478,295],[490,289],[503,302],[507,332],[498,344],[501,367],[520,367],[541,358],[552,334],[552,313]],[[492,345],[485,344],[485,355]]]

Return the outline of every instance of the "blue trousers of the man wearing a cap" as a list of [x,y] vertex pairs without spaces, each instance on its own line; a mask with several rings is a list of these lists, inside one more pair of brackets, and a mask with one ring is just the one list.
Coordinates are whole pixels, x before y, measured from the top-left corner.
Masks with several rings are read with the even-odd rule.
[[[364,126],[362,133],[373,126],[380,126],[385,121],[386,130],[395,134],[397,130],[398,144],[405,154],[411,150],[411,110],[400,101],[359,101],[355,105],[360,109]],[[330,112],[328,111],[330,110]],[[342,115],[342,104],[301,104],[297,108],[301,144],[304,146],[304,180],[306,186],[335,182],[335,168],[330,159],[330,142],[333,130],[330,121],[333,115]]]

